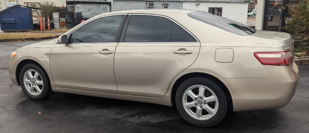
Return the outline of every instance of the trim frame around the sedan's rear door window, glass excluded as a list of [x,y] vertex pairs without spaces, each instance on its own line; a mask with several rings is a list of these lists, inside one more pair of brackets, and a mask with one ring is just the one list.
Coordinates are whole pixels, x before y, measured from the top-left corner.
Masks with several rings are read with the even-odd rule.
[[[129,20],[131,19],[131,16],[132,15],[146,15],[146,16],[158,16],[158,17],[163,17],[163,18],[167,18],[169,20],[171,20],[173,24],[178,24],[181,28],[183,28],[186,32],[188,32],[191,36],[193,36],[195,38],[195,42],[124,42],[125,41],[125,33],[127,32],[127,29],[128,29],[128,24],[129,24]],[[171,28],[170,28],[170,31],[169,31],[169,34],[168,34],[168,40],[169,40],[169,36],[170,36],[170,32],[171,32]],[[196,36],[194,36],[193,33],[191,33],[188,29],[184,28],[184,26],[182,26],[181,24],[179,24],[178,22],[176,22],[174,19],[171,19],[167,16],[164,16],[164,15],[156,15],[156,14],[141,14],[141,13],[129,13],[128,14],[128,17],[125,21],[125,25],[123,26],[123,29],[122,29],[122,32],[121,32],[121,36],[120,36],[120,40],[119,40],[120,43],[199,43],[200,41],[197,39]]]

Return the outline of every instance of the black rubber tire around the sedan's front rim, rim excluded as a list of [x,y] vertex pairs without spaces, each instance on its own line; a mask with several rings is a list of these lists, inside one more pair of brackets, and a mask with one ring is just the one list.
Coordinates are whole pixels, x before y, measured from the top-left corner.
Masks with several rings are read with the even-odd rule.
[[[35,71],[37,71],[42,80],[43,80],[43,88],[42,88],[42,92],[39,95],[32,95],[31,93],[29,93],[23,83],[23,76],[25,74],[26,71],[33,69]],[[40,66],[38,66],[37,64],[27,64],[25,65],[21,71],[20,71],[20,75],[19,75],[19,82],[20,82],[20,86],[23,89],[23,92],[31,99],[33,100],[41,100],[41,99],[45,99],[48,98],[49,96],[51,96],[53,94],[52,88],[50,86],[50,81],[49,78],[46,74],[46,72],[43,70],[43,68],[41,68]]]

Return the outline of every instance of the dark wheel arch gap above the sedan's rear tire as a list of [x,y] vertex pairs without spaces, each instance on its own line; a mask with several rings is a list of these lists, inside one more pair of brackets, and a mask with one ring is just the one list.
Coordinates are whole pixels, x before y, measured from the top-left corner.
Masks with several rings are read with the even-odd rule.
[[204,77],[207,79],[210,79],[211,81],[215,82],[216,84],[219,85],[220,88],[223,89],[223,92],[225,93],[227,100],[228,100],[228,110],[232,111],[233,110],[233,101],[232,101],[232,97],[231,97],[231,93],[228,90],[228,88],[226,87],[225,84],[223,84],[223,82],[221,80],[219,80],[217,77],[207,74],[207,73],[203,73],[203,72],[191,72],[191,73],[187,73],[182,75],[181,77],[179,77],[176,82],[173,84],[172,86],[172,90],[171,90],[171,102],[172,105],[174,105],[175,103],[175,95],[176,95],[176,91],[179,87],[179,85],[186,79],[192,78],[192,77]]

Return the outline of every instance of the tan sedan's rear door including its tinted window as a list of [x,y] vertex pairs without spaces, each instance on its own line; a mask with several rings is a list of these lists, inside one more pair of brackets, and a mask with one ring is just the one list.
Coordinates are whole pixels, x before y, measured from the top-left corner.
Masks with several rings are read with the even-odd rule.
[[197,38],[165,16],[128,15],[122,31],[114,59],[119,94],[163,97],[199,53]]

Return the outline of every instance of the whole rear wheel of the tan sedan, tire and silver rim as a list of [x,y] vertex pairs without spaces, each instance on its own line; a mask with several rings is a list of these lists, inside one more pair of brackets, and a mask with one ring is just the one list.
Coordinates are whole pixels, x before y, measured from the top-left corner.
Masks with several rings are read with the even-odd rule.
[[212,127],[221,122],[227,112],[223,90],[203,77],[193,77],[180,84],[175,102],[182,118],[197,127]]

